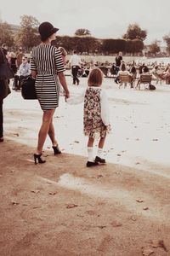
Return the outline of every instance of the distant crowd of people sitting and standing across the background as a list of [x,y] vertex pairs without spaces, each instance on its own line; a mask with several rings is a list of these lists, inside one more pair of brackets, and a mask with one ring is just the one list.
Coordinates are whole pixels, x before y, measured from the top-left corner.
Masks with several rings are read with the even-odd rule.
[[[12,88],[13,90],[20,90],[21,81],[31,74],[31,54],[28,55],[24,53],[21,47],[15,53],[14,51],[8,51],[7,44],[3,44],[2,49],[14,72],[14,83]],[[74,76],[75,70],[72,70],[71,68],[71,60],[66,61],[66,50],[63,47],[59,47],[59,50],[65,64],[65,69],[71,69],[71,75]],[[145,63],[144,61],[142,63],[140,61],[129,61],[125,63],[122,60],[122,52],[119,52],[119,54],[116,55],[116,58],[112,63],[108,61],[85,61],[80,58],[77,63],[76,77],[88,77],[88,74],[94,67],[99,67],[105,77],[115,78],[116,84],[119,83],[118,75],[120,72],[132,75],[133,79],[139,78],[141,73],[150,73],[152,74],[153,79],[162,79],[166,81],[166,84],[170,84],[170,63],[167,65],[164,62],[157,63],[157,61],[150,63]]]

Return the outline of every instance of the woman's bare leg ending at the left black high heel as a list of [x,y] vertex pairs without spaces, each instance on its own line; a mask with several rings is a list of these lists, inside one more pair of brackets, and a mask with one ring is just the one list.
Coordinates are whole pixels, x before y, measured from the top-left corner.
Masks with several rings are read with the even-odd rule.
[[43,113],[42,126],[38,133],[37,154],[42,154],[43,144],[45,143],[46,137],[48,135],[49,125],[53,118],[54,110],[55,109],[50,109],[50,110],[44,111]]

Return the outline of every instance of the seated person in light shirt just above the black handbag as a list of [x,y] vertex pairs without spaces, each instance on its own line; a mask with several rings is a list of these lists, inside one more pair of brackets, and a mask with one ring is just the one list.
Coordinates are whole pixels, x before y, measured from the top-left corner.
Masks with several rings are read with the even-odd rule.
[[23,79],[26,79],[31,74],[31,67],[28,63],[26,56],[22,57],[22,63],[20,64],[19,70],[14,76],[14,90],[20,90],[20,84]]

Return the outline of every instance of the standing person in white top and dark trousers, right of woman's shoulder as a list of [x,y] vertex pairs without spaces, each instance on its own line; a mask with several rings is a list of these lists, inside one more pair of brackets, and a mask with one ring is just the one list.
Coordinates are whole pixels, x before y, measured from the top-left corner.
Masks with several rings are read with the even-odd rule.
[[74,50],[73,55],[71,56],[71,59],[69,61],[69,64],[71,65],[72,76],[73,76],[72,84],[77,83],[78,85],[80,83],[79,79],[77,78],[77,74],[78,74],[78,70],[80,69],[81,63],[82,63],[81,58],[77,55],[77,51]]

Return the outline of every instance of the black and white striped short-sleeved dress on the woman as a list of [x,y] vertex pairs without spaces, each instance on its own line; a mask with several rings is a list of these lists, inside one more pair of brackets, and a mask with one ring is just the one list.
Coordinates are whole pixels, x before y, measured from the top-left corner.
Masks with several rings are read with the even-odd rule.
[[57,73],[65,67],[59,49],[40,44],[31,53],[31,70],[37,71],[36,92],[43,111],[59,106],[59,80]]

